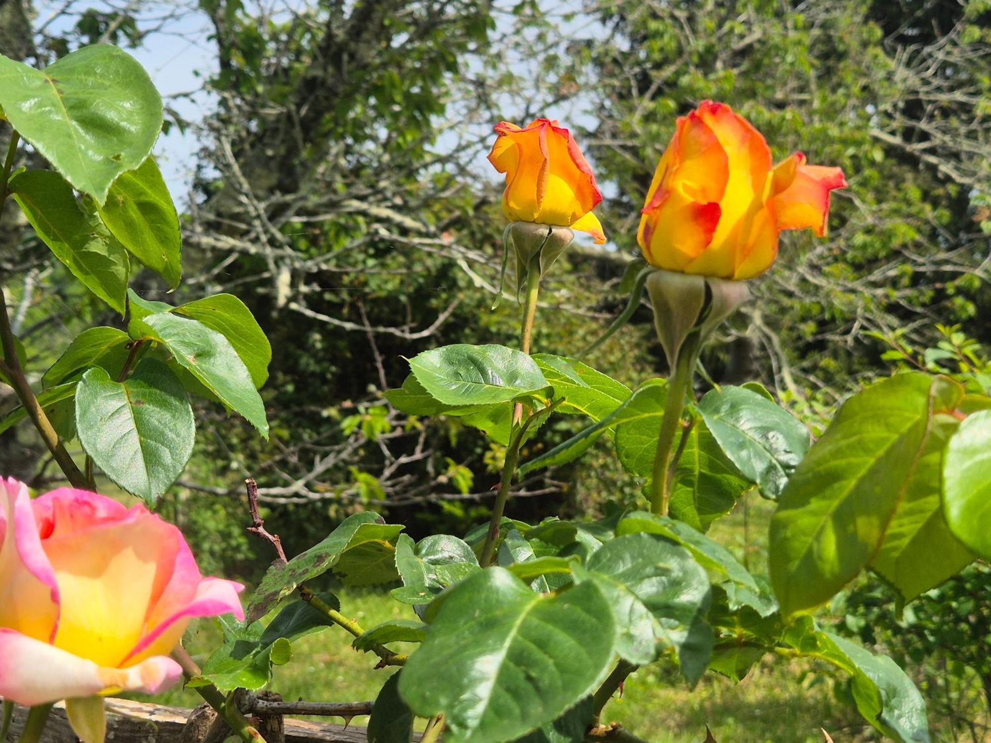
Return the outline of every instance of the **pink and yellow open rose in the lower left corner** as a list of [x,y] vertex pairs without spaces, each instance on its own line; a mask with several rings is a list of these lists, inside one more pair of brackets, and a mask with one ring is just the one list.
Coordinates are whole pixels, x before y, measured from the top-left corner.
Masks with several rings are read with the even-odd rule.
[[203,578],[179,530],[142,505],[70,488],[33,500],[0,479],[0,696],[163,690],[190,619],[243,619],[242,587]]

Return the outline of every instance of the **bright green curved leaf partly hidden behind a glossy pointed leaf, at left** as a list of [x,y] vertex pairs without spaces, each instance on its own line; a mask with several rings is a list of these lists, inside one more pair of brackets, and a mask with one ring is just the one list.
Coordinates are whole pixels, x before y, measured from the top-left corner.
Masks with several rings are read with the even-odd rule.
[[181,304],[172,311],[220,333],[245,363],[255,386],[265,384],[272,363],[272,346],[244,302],[233,294],[214,294]]

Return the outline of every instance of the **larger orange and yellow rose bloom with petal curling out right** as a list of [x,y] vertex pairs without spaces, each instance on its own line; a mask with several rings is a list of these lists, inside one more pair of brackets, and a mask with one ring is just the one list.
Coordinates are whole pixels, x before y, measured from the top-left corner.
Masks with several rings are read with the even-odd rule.
[[678,119],[647,192],[637,242],[651,265],[718,278],[763,273],[782,230],[826,235],[838,167],[795,153],[777,165],[754,127],[724,103]]

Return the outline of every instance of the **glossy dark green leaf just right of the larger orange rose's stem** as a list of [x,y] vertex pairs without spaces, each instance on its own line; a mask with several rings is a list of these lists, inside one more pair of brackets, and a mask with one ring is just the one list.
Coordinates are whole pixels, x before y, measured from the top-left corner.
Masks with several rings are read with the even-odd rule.
[[743,387],[713,389],[699,413],[744,478],[776,498],[809,450],[809,429],[764,395]]

